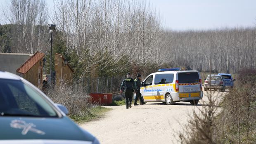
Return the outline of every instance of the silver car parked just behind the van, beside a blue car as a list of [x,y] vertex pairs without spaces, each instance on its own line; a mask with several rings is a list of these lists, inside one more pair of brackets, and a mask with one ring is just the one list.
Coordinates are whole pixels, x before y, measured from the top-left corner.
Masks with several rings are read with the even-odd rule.
[[222,92],[225,91],[225,86],[223,85],[224,81],[222,76],[220,75],[208,75],[206,80],[204,81],[204,90],[207,91],[209,89],[220,90]]

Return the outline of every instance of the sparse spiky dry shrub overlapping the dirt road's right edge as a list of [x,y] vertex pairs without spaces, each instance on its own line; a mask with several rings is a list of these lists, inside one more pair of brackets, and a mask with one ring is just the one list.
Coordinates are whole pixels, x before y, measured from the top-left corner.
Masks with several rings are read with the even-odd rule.
[[188,124],[184,126],[184,132],[179,133],[182,144],[215,144],[218,141],[219,121],[217,119],[218,106],[216,97],[208,91],[209,102],[199,113],[193,110]]

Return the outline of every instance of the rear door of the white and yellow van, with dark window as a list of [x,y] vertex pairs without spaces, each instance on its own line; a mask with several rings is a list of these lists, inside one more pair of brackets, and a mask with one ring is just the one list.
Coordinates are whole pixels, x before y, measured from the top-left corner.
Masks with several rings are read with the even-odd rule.
[[[201,91],[198,72],[178,73],[179,92],[189,93],[184,97],[198,97]],[[199,92],[199,94],[194,94]],[[190,94],[193,93],[193,94]]]

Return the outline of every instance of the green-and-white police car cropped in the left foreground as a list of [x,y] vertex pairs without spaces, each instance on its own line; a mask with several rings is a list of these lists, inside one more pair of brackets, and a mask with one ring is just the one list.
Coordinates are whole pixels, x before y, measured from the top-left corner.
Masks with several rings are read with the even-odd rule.
[[0,71],[0,144],[99,144],[27,80]]

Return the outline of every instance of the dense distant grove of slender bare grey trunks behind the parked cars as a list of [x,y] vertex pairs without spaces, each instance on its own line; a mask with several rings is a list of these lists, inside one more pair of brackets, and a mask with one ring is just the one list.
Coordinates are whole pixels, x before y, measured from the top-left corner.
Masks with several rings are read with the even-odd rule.
[[237,73],[241,68],[256,67],[255,33],[255,28],[169,31],[165,49],[176,66],[209,71],[212,62],[213,71]]

